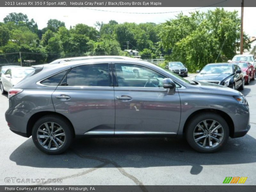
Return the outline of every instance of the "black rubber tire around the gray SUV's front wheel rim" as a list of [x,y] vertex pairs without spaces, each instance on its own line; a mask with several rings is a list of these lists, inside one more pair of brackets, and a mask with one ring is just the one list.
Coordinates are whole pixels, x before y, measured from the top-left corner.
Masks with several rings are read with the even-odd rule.
[[[199,123],[201,123],[202,121],[204,121],[204,120],[207,120],[207,121],[214,120],[217,123],[219,123],[220,126],[223,128],[223,129],[221,129],[221,131],[223,133],[223,137],[222,137],[221,141],[216,146],[214,146],[212,148],[204,148],[202,146],[199,146],[199,144],[196,143],[196,141],[195,141],[196,139],[194,138],[194,137],[196,137],[196,136],[194,136],[194,130],[196,130],[196,128],[198,128],[197,125]],[[185,133],[186,133],[186,139],[188,141],[188,144],[193,149],[195,149],[196,151],[201,152],[201,153],[213,153],[213,152],[219,151],[227,143],[228,137],[229,137],[229,128],[228,128],[227,122],[221,116],[219,116],[218,114],[215,114],[215,113],[201,113],[201,114],[198,114],[197,116],[195,116],[194,118],[192,118],[188,122],[188,126],[186,128]],[[211,138],[212,136],[209,136],[209,137]],[[208,145],[209,145],[210,143],[209,143],[209,141],[207,141],[208,140],[207,138],[205,136],[206,143],[208,142]],[[203,138],[203,140],[204,140],[204,138]],[[212,139],[212,141],[215,142],[215,140],[213,140],[213,139]]]

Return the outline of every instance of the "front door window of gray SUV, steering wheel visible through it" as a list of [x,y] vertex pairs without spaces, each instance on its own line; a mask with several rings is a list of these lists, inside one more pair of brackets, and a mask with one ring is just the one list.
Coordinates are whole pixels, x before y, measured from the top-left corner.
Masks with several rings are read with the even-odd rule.
[[165,76],[134,64],[115,64],[119,87],[163,87]]

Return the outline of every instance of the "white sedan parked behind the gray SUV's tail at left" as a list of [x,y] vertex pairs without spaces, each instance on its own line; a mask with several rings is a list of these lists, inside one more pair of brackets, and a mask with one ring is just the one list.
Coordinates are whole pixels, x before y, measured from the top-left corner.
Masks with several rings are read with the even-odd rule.
[[0,87],[2,94],[8,92],[12,86],[19,83],[24,77],[34,71],[35,68],[32,67],[17,67],[7,69],[1,77]]

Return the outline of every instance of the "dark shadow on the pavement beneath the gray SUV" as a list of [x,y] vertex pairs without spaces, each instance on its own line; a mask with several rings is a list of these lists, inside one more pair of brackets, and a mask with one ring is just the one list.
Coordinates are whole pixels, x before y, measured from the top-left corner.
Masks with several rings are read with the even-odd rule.
[[47,155],[28,139],[10,155],[17,165],[42,168],[159,167],[192,166],[199,174],[204,165],[232,165],[256,162],[256,140],[250,135],[229,139],[219,152],[194,151],[184,139],[170,138],[82,138],[61,155]]

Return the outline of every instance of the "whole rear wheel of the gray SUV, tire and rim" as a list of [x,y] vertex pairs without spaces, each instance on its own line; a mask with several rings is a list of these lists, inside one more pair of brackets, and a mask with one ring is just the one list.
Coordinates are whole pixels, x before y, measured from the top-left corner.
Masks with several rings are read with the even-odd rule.
[[32,139],[38,149],[47,154],[60,154],[72,143],[73,132],[70,123],[59,116],[44,116],[36,121]]

